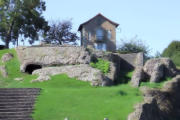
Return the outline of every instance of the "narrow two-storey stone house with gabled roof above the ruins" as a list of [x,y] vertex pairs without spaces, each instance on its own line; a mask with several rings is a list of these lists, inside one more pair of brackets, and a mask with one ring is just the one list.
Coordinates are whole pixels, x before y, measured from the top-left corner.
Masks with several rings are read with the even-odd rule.
[[97,14],[79,26],[81,46],[97,50],[116,50],[116,28],[119,24],[109,20],[102,14]]

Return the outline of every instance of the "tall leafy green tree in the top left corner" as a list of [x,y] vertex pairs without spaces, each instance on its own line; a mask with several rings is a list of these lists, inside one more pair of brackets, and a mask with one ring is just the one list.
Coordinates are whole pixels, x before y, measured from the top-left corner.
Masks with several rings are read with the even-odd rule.
[[45,9],[42,0],[1,0],[0,38],[6,47],[10,42],[18,43],[19,37],[28,39],[30,44],[38,40],[38,33],[49,29],[42,16]]

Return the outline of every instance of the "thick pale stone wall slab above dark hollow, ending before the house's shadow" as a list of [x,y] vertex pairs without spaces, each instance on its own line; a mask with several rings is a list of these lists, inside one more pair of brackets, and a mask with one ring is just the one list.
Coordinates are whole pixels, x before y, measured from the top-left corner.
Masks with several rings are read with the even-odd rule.
[[21,71],[25,72],[27,65],[46,66],[88,64],[90,55],[83,47],[18,47],[16,48],[21,63]]

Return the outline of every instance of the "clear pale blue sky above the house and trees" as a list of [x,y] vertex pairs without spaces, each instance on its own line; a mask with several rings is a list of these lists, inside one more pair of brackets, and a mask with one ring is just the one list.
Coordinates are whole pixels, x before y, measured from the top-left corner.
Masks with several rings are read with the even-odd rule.
[[47,20],[72,19],[73,31],[98,13],[120,24],[120,39],[135,35],[162,52],[172,40],[180,40],[180,0],[45,0]]

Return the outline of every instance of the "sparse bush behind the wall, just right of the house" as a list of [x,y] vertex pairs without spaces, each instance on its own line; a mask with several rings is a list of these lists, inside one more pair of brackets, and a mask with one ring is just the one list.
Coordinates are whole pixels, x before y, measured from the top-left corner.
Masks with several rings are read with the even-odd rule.
[[138,53],[143,52],[145,57],[149,57],[149,46],[145,45],[145,43],[138,39],[137,36],[131,38],[130,40],[122,39],[122,44],[118,48],[119,53]]

